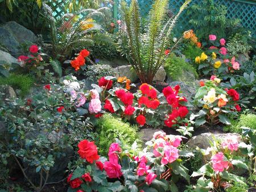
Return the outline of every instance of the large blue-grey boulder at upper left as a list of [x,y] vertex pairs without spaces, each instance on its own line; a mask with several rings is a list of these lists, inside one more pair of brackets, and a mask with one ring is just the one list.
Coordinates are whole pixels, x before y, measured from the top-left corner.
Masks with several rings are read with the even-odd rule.
[[22,54],[21,43],[35,41],[35,34],[16,22],[7,22],[0,27],[0,44],[14,57]]

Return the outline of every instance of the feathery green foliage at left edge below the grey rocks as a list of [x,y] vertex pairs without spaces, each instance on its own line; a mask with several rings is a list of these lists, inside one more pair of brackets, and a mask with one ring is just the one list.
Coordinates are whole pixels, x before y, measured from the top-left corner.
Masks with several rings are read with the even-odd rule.
[[0,85],[10,85],[14,89],[20,89],[20,95],[24,97],[29,93],[34,80],[29,75],[11,74],[9,77],[0,77]]

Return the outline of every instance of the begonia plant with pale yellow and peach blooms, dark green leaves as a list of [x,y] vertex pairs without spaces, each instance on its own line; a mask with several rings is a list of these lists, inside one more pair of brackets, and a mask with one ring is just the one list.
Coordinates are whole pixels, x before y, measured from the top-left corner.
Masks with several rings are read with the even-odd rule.
[[194,104],[199,107],[200,111],[190,117],[191,120],[196,119],[196,126],[204,123],[213,126],[220,122],[230,124],[229,116],[235,118],[237,111],[241,110],[237,104],[240,99],[237,91],[224,90],[218,84],[219,82],[220,79],[214,78],[206,81],[197,89]]

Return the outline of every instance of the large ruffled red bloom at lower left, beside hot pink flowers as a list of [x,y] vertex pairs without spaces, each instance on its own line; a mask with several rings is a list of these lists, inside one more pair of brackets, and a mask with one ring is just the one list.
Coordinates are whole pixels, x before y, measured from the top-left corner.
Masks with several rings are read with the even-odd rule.
[[97,146],[94,144],[93,141],[90,142],[86,139],[82,140],[78,144],[78,147],[78,153],[80,157],[86,159],[86,161],[88,161],[90,164],[92,164],[93,161],[96,161],[100,158],[100,156],[98,156]]

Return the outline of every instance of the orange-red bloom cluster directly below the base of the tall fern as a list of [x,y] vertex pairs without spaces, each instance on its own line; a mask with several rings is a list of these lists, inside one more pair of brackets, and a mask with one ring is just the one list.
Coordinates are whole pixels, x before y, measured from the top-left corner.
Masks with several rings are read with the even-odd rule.
[[148,84],[142,84],[139,87],[143,96],[138,99],[139,106],[145,105],[147,108],[156,109],[160,105],[159,100],[156,98],[157,93],[154,88]]

